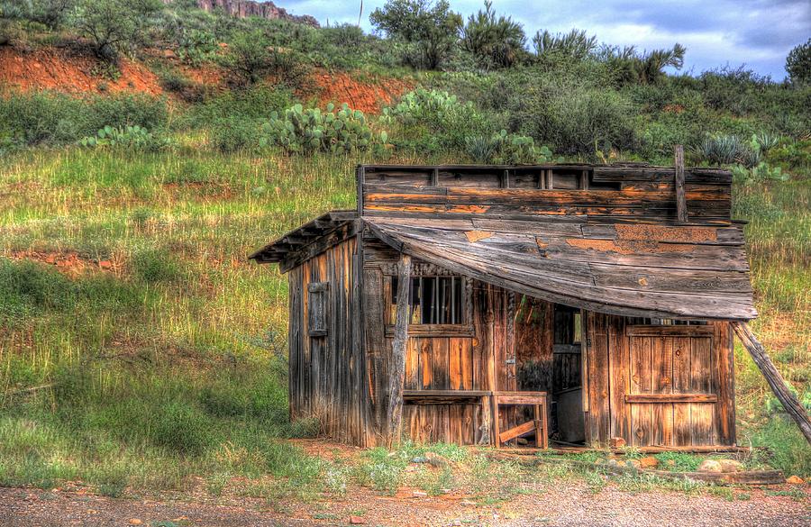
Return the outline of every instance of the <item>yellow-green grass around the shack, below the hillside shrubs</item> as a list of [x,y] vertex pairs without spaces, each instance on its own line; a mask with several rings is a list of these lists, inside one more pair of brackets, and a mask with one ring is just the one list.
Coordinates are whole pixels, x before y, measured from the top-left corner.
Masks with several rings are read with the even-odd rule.
[[[188,133],[160,153],[68,147],[0,159],[0,484],[78,480],[126,495],[201,476],[220,495],[245,478],[240,492],[274,504],[342,495],[348,481],[385,493],[405,482],[431,494],[469,485],[488,500],[572,475],[605,485],[602,474],[531,471],[453,445],[371,450],[346,467],[284,441],[313,430],[287,421],[287,281],[245,257],[323,211],[351,208],[361,159],[226,155],[205,141]],[[751,221],[755,332],[802,390],[811,185],[734,190],[736,216]],[[68,256],[72,267],[48,263]],[[736,361],[739,442],[769,446],[759,462],[806,477],[811,450],[766,404],[768,386],[743,350]],[[429,450],[451,468],[405,470]]]

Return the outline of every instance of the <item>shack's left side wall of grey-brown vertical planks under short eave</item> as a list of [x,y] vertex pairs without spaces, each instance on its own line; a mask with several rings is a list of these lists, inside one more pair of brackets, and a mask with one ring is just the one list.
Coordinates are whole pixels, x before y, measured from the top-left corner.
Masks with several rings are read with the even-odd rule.
[[[322,432],[337,441],[363,444],[366,394],[361,360],[357,237],[341,241],[288,273],[290,417],[316,418]],[[318,285],[317,287],[312,287]],[[311,295],[323,290],[315,311]],[[311,331],[325,317],[324,331]]]

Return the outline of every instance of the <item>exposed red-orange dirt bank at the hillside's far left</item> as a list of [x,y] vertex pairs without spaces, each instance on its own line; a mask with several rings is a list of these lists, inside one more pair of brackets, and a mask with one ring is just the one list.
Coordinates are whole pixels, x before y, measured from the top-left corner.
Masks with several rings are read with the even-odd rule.
[[116,80],[92,75],[95,59],[77,57],[68,50],[43,48],[25,53],[14,48],[0,48],[0,86],[23,91],[56,90],[68,94],[99,92],[106,86],[111,92],[163,93],[158,77],[148,68],[121,59],[121,77]]

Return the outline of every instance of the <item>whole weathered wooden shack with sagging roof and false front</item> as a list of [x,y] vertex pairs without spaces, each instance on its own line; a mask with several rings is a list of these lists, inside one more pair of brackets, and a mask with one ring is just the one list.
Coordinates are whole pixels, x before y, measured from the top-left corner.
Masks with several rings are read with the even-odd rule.
[[360,446],[734,445],[730,322],[756,313],[729,172],[360,166],[357,180],[357,210],[251,255],[288,275],[293,419]]

